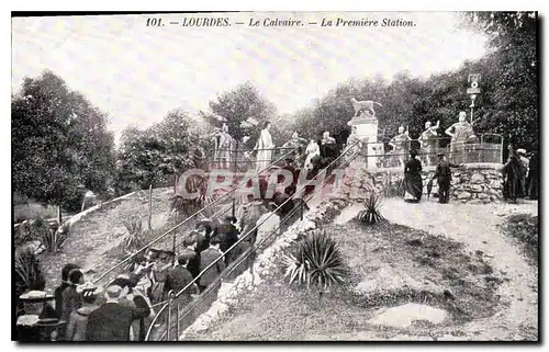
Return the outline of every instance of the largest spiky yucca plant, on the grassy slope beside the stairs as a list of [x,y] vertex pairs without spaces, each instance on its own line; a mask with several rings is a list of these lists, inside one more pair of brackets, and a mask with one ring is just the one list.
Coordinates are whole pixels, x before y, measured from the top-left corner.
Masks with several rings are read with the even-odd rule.
[[348,276],[337,242],[325,231],[300,240],[293,253],[284,254],[284,264],[290,284],[316,287],[318,300],[328,287],[345,284]]

